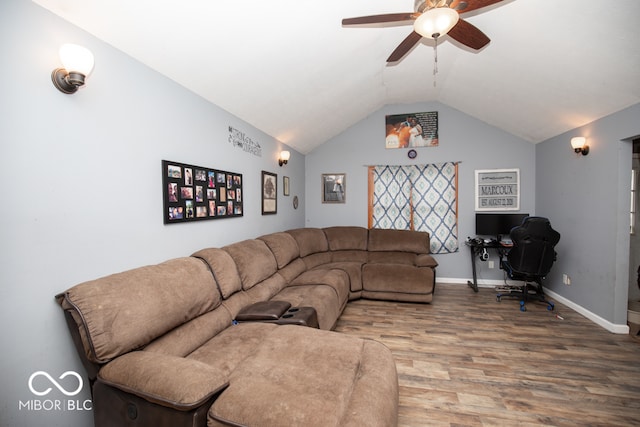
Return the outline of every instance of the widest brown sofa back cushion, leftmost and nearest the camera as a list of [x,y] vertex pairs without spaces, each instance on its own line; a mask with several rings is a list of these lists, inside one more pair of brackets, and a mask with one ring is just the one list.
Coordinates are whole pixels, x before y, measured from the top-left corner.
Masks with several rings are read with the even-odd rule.
[[106,363],[220,304],[209,268],[177,258],[84,282],[57,296],[78,324],[87,358]]

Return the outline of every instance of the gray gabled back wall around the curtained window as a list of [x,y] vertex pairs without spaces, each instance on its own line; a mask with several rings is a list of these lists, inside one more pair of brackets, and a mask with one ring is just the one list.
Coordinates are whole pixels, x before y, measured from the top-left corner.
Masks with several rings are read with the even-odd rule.
[[[440,144],[419,148],[410,160],[406,149],[385,149],[385,115],[437,111]],[[365,165],[406,165],[458,161],[459,251],[437,255],[439,281],[460,282],[471,277],[467,236],[475,235],[474,171],[519,168],[522,197],[520,211],[535,213],[535,146],[438,102],[388,105],[354,124],[306,156],[307,222],[309,227],[367,226],[367,168]],[[323,173],[346,173],[346,203],[322,204]],[[496,284],[503,278],[497,256],[495,268],[479,263],[480,283]]]

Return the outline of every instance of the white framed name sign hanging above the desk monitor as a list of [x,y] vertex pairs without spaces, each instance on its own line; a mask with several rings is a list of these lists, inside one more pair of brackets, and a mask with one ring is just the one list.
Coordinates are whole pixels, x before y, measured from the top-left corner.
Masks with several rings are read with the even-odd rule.
[[520,210],[520,169],[476,171],[476,211]]

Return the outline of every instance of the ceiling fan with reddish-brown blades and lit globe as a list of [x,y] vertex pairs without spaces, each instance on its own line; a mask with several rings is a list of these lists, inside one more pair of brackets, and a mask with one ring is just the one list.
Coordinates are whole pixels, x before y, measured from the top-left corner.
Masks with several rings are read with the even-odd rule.
[[489,37],[459,15],[501,1],[503,0],[415,0],[415,12],[346,18],[342,20],[342,25],[413,21],[413,31],[391,53],[387,62],[402,59],[422,37],[435,39],[437,44],[438,37],[449,34],[463,45],[479,50],[489,43]]

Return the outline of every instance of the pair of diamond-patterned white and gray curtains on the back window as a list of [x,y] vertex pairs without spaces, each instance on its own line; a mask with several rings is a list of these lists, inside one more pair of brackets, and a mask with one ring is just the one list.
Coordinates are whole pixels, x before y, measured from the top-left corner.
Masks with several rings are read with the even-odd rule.
[[458,251],[456,163],[373,168],[371,226],[427,231],[432,253]]

